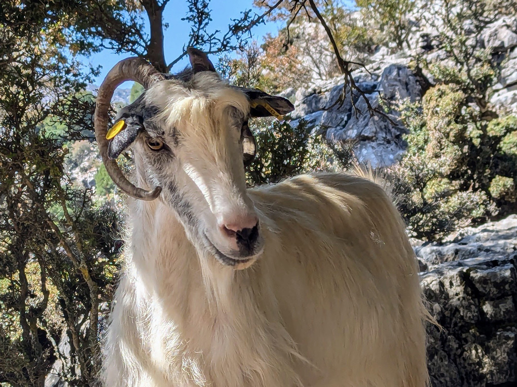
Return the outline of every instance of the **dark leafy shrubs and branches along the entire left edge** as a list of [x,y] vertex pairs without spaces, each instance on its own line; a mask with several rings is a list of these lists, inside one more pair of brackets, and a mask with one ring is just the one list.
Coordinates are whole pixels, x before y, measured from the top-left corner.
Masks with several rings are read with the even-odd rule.
[[[73,2],[0,4],[0,383],[44,385],[63,335],[72,385],[99,363],[99,310],[109,305],[122,224],[65,173],[64,142],[91,133],[91,79],[69,55],[92,41]],[[108,6],[108,5],[107,5]],[[115,5],[117,7],[117,5]],[[109,6],[108,6],[109,8]],[[73,24],[73,26],[72,26]],[[67,47],[67,49],[65,49]]]

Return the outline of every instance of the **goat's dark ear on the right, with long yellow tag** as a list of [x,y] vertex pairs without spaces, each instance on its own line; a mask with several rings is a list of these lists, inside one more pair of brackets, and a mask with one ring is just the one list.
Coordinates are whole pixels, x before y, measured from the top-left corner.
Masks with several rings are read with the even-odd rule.
[[283,115],[294,110],[294,106],[286,98],[270,95],[258,89],[242,88],[250,101],[251,117],[276,117],[279,120]]

